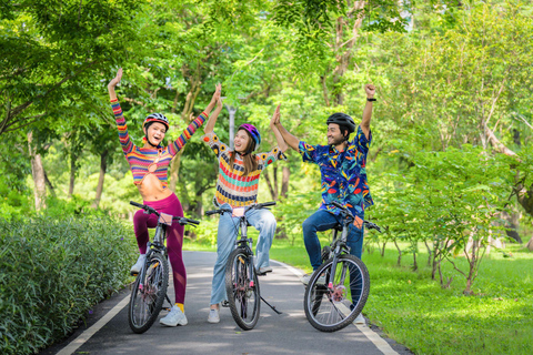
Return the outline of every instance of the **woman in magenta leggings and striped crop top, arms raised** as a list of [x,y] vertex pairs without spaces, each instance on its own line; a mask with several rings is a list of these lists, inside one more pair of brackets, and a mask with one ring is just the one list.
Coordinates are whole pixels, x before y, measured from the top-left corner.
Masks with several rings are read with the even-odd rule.
[[[117,128],[119,130],[119,140],[122,145],[125,159],[133,173],[133,183],[144,201],[144,204],[152,206],[159,212],[168,213],[174,216],[183,216],[183,209],[175,194],[169,190],[167,182],[167,172],[172,158],[185,145],[192,134],[205,122],[209,113],[214,108],[217,99],[220,97],[220,87],[218,87],[213,98],[205,109],[183,133],[168,146],[163,146],[164,134],[169,129],[168,119],[161,113],[152,113],[147,116],[142,124],[144,132],[143,145],[137,146],[128,134],[122,109],[120,108],[114,87],[122,78],[122,69],[119,69],[117,77],[108,84],[109,98],[113,108]],[[142,210],[137,211],[133,217],[133,225],[139,245],[139,258],[131,267],[131,274],[138,274],[145,260],[147,243],[149,241],[148,229],[155,227],[158,217],[154,214],[144,214]],[[187,317],[183,311],[185,300],[187,274],[182,258],[183,226],[174,222],[167,229],[167,251],[169,253],[170,264],[172,265],[172,278],[174,283],[175,304],[170,313],[160,320],[160,323],[168,326],[185,325]]]

